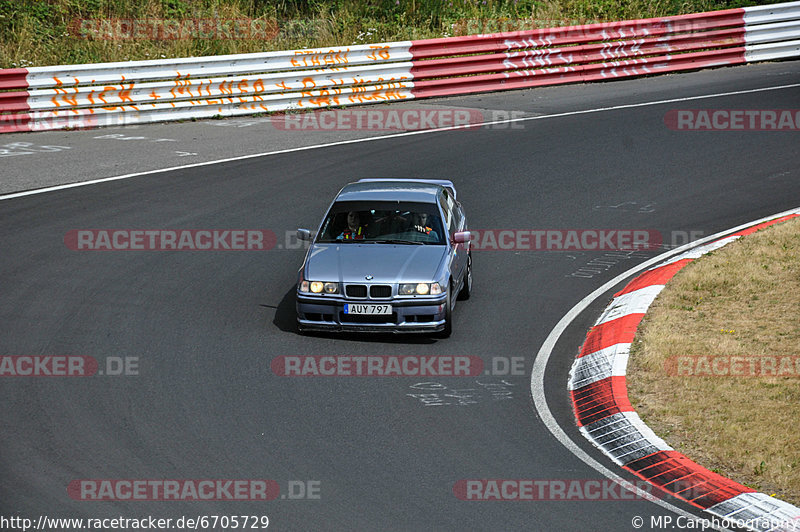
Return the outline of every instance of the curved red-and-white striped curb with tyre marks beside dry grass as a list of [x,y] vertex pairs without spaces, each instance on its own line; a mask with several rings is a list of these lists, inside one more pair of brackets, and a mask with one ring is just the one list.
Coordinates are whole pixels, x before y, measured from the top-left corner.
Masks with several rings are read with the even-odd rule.
[[795,212],[755,222],[672,257],[630,281],[614,294],[589,330],[568,384],[580,432],[614,462],[698,508],[747,522],[748,528],[759,531],[800,531],[800,508],[709,471],[667,445],[633,410],[625,372],[636,329],[672,276],[741,236],[798,216]]

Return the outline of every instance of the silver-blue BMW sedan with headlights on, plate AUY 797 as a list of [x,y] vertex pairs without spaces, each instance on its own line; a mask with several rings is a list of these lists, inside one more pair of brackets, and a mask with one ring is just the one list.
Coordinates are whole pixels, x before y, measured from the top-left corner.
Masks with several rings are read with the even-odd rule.
[[298,273],[301,332],[452,332],[472,290],[471,235],[451,181],[361,179],[342,188]]

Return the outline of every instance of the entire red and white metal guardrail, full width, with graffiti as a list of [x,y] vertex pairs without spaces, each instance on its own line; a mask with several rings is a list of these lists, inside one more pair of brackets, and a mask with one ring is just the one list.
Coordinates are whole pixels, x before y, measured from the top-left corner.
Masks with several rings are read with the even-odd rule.
[[0,132],[339,107],[800,57],[800,2],[257,54],[0,70]]

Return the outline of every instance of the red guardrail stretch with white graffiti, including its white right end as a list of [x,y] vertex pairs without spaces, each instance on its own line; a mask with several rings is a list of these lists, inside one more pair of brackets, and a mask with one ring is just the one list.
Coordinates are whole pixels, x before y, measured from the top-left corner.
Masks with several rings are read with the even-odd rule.
[[800,57],[798,39],[800,2],[415,41],[412,93],[447,96]]

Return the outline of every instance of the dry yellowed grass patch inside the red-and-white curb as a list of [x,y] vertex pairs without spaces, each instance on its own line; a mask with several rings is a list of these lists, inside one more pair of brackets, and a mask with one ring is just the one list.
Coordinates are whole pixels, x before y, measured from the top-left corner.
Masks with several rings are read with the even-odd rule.
[[[650,307],[628,364],[631,402],[656,434],[713,471],[800,504],[800,368],[676,376],[667,361],[685,356],[755,357],[762,375],[759,357],[800,356],[800,219],[681,270]],[[741,360],[750,367],[752,358]]]

